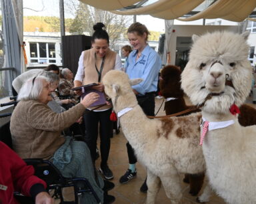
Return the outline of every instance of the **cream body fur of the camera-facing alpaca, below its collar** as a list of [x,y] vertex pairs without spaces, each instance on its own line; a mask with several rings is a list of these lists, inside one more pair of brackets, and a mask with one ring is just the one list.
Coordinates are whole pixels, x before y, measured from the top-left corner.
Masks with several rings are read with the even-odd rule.
[[[225,134],[221,129],[209,131],[203,142],[207,173],[211,175],[209,183],[228,203],[256,202],[256,165],[247,162],[256,157],[252,132],[255,132],[253,126],[244,128],[235,122],[225,128]],[[249,144],[245,143],[248,139]],[[235,191],[239,193],[235,195]]]

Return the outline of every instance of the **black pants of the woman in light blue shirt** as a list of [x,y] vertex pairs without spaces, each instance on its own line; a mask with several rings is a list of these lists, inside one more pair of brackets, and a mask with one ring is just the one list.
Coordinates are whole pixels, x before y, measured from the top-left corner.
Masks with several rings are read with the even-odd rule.
[[[150,93],[146,94],[145,96],[137,96],[137,101],[139,106],[141,106],[143,112],[147,116],[155,116],[155,94]],[[127,153],[129,158],[129,163],[133,164],[137,162],[137,157],[135,156],[134,150],[127,142]]]

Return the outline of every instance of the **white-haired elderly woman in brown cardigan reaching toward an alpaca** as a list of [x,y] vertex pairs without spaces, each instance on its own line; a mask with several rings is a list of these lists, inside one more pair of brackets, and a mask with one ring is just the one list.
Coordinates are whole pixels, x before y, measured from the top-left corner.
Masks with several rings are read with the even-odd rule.
[[[113,202],[115,197],[106,193],[110,189],[110,182],[95,175],[85,142],[61,136],[61,130],[79,119],[85,108],[98,100],[99,95],[87,94],[79,104],[57,114],[47,106],[52,100],[51,92],[45,76],[34,77],[23,84],[17,98],[19,103],[11,116],[13,149],[22,158],[51,159],[65,177],[87,178],[102,203]],[[85,193],[82,199],[82,203],[95,203],[90,193]]]

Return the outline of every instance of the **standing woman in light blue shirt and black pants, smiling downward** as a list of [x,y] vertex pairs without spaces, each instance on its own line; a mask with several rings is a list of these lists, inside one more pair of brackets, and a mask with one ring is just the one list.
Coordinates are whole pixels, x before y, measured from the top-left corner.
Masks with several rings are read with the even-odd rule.
[[[143,78],[143,81],[137,85],[132,86],[133,92],[136,95],[139,106],[147,116],[154,116],[155,114],[155,92],[157,91],[158,74],[161,68],[161,58],[149,45],[147,39],[150,33],[147,27],[141,23],[133,23],[128,31],[127,36],[133,51],[129,54],[127,60],[126,73],[130,79]],[[133,148],[127,145],[127,153],[129,157],[129,169],[119,181],[120,183],[127,183],[136,175],[135,163],[137,158],[134,154]],[[147,185],[144,182],[141,186],[141,191],[147,191]]]

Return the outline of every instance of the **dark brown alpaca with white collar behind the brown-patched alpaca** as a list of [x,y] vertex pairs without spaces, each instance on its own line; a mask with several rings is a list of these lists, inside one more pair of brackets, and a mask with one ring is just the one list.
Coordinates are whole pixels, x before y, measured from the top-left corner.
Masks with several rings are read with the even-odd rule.
[[[192,112],[200,112],[195,106],[187,106],[184,99],[184,92],[181,89],[181,69],[178,66],[167,65],[161,70],[159,81],[160,94],[165,98],[165,114],[171,115],[184,110],[191,111],[179,116],[186,116]],[[189,183],[191,195],[197,195],[203,185],[204,173],[195,175],[185,174],[183,181]]]

